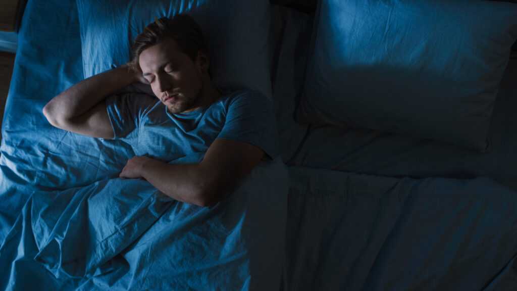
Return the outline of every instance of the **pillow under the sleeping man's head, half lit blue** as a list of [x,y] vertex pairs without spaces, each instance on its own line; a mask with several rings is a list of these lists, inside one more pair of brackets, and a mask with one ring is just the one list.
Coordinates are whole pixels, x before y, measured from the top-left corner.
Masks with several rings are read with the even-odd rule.
[[217,86],[271,96],[270,5],[252,0],[77,0],[84,77],[131,61],[134,39],[157,18],[188,13],[208,43]]

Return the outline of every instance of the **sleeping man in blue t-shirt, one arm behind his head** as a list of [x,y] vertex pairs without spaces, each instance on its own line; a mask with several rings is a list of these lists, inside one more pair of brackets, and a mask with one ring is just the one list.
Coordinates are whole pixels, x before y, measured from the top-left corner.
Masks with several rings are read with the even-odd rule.
[[[120,178],[145,179],[176,200],[213,206],[258,163],[278,156],[278,145],[270,100],[219,90],[209,64],[191,17],[161,18],[136,37],[130,63],[71,86],[43,114],[55,127],[131,144],[136,156]],[[116,94],[135,82],[149,84],[155,96]],[[200,163],[168,164],[194,152],[205,153]]]

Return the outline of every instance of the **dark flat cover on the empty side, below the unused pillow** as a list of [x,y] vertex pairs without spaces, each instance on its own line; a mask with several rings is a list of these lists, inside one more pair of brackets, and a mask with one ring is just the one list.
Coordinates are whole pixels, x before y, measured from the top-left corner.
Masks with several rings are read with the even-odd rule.
[[285,290],[515,290],[517,193],[290,167]]

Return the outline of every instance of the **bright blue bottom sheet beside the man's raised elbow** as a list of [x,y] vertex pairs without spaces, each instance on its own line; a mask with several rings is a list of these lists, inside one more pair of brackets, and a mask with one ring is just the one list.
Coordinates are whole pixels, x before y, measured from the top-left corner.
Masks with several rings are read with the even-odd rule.
[[117,177],[133,155],[124,143],[71,134],[47,122],[43,106],[82,79],[74,2],[29,1],[2,123],[0,242],[33,191]]

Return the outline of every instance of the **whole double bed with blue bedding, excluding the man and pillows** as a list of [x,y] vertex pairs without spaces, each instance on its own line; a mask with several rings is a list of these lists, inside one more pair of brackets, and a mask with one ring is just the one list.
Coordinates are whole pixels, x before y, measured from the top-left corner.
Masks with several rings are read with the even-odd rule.
[[[204,9],[206,3],[208,10],[216,9],[210,1],[156,2],[176,3],[164,6],[170,13]],[[221,45],[236,65],[215,63],[239,74],[216,81],[272,98],[281,155],[253,170],[227,199],[202,208],[164,197],[145,181],[117,179],[134,155],[127,143],[48,124],[41,112],[48,100],[119,65],[117,54],[128,51],[119,47],[105,60],[101,50],[112,44],[86,41],[95,36],[87,29],[111,10],[92,9],[95,2],[85,0],[29,0],[2,125],[0,288],[515,289],[517,61],[508,56],[517,24],[503,35],[511,43],[501,45],[508,47],[507,59],[497,66],[502,81],[496,82],[486,137],[474,133],[456,140],[435,132],[422,137],[377,125],[343,126],[339,116],[322,122],[323,107],[317,116],[299,112],[315,90],[308,76],[318,50],[316,32],[325,23],[322,13],[334,11],[324,8],[353,2],[246,2],[253,3],[252,10],[227,20],[235,26],[232,21],[244,21],[251,11],[254,18],[246,25],[254,30],[262,27],[256,25],[260,19],[267,21],[263,30],[253,31],[250,43],[240,44],[255,48],[250,59],[232,50],[230,40]],[[239,2],[221,3],[228,9]],[[515,4],[493,5],[508,19],[517,13]],[[124,14],[122,20],[130,16],[135,17]],[[94,17],[86,27],[85,19]],[[133,24],[124,27],[134,33]],[[245,37],[243,31],[232,34]],[[262,45],[253,42],[257,39]],[[242,67],[254,69],[247,74]],[[202,156],[193,152],[171,163],[196,163]]]

